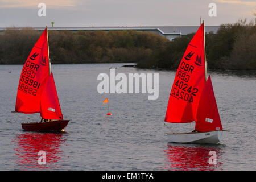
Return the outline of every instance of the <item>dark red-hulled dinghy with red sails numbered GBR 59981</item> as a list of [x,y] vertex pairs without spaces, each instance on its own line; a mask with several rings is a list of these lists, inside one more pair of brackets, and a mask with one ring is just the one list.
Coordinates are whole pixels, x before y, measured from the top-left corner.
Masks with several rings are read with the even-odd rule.
[[24,130],[61,131],[68,125],[69,120],[63,120],[51,72],[47,27],[22,68],[15,111],[24,114],[40,113],[44,118],[41,122],[22,123]]

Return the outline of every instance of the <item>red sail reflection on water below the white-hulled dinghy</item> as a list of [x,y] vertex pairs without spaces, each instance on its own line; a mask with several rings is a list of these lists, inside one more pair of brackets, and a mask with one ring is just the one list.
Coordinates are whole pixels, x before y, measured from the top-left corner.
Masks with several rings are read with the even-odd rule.
[[[210,151],[216,152],[217,164],[209,164]],[[164,150],[167,156],[163,169],[167,170],[222,170],[221,147],[220,146],[200,146],[168,144]]]

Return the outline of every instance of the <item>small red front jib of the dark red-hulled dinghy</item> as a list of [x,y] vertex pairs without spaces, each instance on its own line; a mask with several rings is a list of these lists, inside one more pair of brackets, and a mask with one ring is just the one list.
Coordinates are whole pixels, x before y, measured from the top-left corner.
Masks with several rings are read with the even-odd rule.
[[63,119],[52,73],[41,96],[40,115],[44,119]]

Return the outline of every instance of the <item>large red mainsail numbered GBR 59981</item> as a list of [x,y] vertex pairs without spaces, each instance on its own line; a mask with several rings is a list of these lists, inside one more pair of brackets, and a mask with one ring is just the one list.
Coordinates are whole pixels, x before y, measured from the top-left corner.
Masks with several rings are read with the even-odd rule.
[[26,114],[40,112],[41,94],[48,76],[47,30],[44,30],[23,66],[15,111]]

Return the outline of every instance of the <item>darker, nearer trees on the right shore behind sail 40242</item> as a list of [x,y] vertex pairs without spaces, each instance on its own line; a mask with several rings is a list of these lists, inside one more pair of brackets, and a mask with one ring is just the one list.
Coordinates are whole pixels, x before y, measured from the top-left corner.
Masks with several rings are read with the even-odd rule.
[[[167,42],[163,49],[155,51],[149,60],[139,60],[139,68],[176,69],[188,43],[188,34]],[[234,24],[222,24],[216,34],[205,34],[205,49],[210,69],[256,69],[256,19],[246,19]]]

